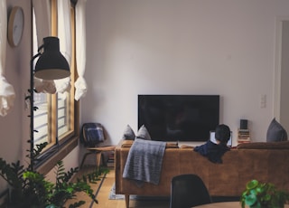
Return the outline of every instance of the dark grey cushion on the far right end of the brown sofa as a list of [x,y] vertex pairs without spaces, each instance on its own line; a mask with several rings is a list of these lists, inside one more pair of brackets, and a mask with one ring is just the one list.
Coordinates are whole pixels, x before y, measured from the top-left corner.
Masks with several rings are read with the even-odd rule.
[[278,142],[278,141],[285,141],[287,140],[287,132],[278,123],[275,118],[271,121],[266,134],[266,141],[267,142]]

